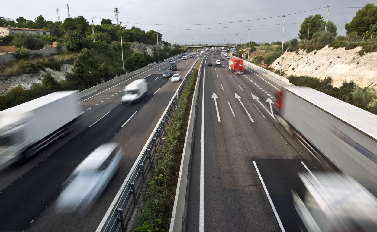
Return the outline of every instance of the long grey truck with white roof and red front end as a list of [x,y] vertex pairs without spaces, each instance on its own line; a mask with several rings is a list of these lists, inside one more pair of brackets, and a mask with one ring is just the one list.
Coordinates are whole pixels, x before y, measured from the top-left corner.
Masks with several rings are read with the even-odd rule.
[[[274,115],[322,162],[377,196],[377,115],[308,87],[283,86]],[[323,158],[323,159],[322,159]]]

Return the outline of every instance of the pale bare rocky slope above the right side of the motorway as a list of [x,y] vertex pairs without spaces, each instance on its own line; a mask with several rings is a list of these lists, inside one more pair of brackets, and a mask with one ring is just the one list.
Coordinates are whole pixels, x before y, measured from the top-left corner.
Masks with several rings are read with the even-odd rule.
[[[377,52],[359,55],[362,47],[345,50],[345,48],[333,49],[323,47],[310,53],[299,50],[285,52],[283,54],[282,71],[287,76],[312,76],[324,79],[330,76],[333,86],[339,87],[343,80],[353,80],[360,87],[377,85]],[[277,58],[270,68],[280,69],[280,57]]]

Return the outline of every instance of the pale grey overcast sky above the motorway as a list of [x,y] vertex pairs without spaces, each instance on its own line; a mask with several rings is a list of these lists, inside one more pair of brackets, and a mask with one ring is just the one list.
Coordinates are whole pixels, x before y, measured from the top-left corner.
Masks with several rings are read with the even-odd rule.
[[[34,20],[38,15],[48,21],[56,21],[55,8],[59,8],[60,18],[67,17],[66,3],[69,4],[71,17],[83,15],[89,23],[91,17],[95,24],[100,24],[101,19],[115,20],[114,8],[119,10],[119,20],[127,25],[140,27],[143,30],[157,30],[162,33],[162,39],[179,44],[208,43],[222,44],[247,42],[250,29],[250,40],[256,42],[281,41],[283,32],[283,18],[254,20],[279,15],[308,11],[326,6],[363,7],[371,0],[137,0],[137,1],[84,1],[68,0],[51,1],[35,0],[33,3],[25,0],[2,0],[0,17],[18,18],[20,16]],[[337,32],[345,35],[344,23],[351,21],[359,8],[330,8],[329,20],[336,23]],[[326,8],[300,14],[288,15],[285,18],[284,41],[298,36],[300,24],[308,15],[320,14],[326,19]],[[242,23],[227,23],[234,21],[254,20]],[[163,26],[147,24],[209,24],[193,26]],[[224,23],[224,24],[210,24]],[[275,26],[260,26],[267,24],[281,24]],[[244,27],[243,27],[244,26]],[[219,28],[228,27],[228,28]],[[205,28],[205,29],[201,29]],[[217,28],[217,29],[216,29]],[[193,30],[182,30],[193,29]],[[234,38],[232,38],[234,37]],[[198,41],[196,41],[198,40]]]

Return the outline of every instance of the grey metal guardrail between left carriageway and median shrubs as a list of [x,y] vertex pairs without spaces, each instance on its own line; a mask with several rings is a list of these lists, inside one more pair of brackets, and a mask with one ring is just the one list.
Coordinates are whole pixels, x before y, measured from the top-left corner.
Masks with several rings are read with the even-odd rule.
[[[195,61],[195,64],[198,62],[198,60],[199,59]],[[166,128],[169,125],[170,120],[172,119],[173,112],[178,106],[179,97],[182,94],[187,79],[191,74],[195,64],[182,80],[182,83],[176,91],[176,94],[173,97],[169,108],[167,108],[167,110],[164,112],[164,117],[159,123],[159,126],[157,127],[155,132],[153,132],[152,139],[148,142],[148,146],[143,151],[143,155],[141,159],[139,159],[138,165],[130,171],[132,172],[131,177],[128,180],[118,202],[115,204],[113,212],[111,213],[110,218],[107,220],[106,226],[104,227],[103,231],[113,232],[118,231],[119,229],[121,229],[121,231],[123,232],[125,231],[126,225],[124,223],[124,220],[126,218],[129,218],[132,214],[133,207],[136,205],[136,198],[141,190],[141,186],[145,182],[146,175],[150,167],[152,166],[157,149],[161,144],[162,137],[166,133]]]

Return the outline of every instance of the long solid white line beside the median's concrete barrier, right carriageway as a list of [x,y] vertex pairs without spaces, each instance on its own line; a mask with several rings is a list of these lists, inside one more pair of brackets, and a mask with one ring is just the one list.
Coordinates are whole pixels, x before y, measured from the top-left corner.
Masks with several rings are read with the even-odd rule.
[[[204,64],[207,64],[205,58]],[[200,146],[200,190],[199,190],[199,232],[204,232],[204,83],[205,83],[205,67],[203,72],[203,95],[202,95],[202,135]]]

